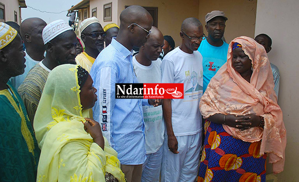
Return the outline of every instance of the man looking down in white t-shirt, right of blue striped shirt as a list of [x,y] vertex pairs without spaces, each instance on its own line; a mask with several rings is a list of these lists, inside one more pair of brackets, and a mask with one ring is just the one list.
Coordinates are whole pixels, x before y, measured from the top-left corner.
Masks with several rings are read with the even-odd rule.
[[[133,66],[139,83],[161,83],[161,63],[158,58],[162,52],[163,34],[151,27],[148,41],[133,57]],[[165,126],[162,121],[162,106],[143,106],[147,159],[143,164],[142,182],[159,182],[162,144]]]

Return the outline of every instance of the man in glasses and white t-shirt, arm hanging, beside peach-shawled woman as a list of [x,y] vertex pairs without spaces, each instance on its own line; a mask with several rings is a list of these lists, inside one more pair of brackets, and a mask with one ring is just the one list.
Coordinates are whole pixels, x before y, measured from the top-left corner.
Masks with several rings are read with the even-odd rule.
[[183,99],[164,99],[166,125],[161,182],[194,182],[199,165],[202,122],[202,56],[197,51],[203,27],[196,18],[186,18],[180,31],[182,43],[169,52],[161,65],[161,83],[183,83]]

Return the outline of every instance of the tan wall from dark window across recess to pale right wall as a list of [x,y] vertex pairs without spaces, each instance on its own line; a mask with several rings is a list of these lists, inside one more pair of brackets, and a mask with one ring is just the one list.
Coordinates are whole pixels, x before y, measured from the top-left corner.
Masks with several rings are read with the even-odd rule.
[[158,7],[158,28],[174,38],[175,46],[181,42],[179,31],[185,18],[196,17],[204,26],[206,13],[216,9],[224,11],[229,19],[225,30],[227,42],[241,35],[254,36],[257,0],[120,0],[118,17],[125,5],[133,4]]

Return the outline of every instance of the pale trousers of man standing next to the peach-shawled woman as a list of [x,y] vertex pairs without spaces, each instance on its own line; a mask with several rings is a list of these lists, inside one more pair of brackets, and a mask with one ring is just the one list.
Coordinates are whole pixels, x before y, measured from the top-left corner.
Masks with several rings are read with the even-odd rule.
[[177,136],[178,154],[168,151],[167,135],[163,143],[161,182],[194,182],[199,165],[202,133]]

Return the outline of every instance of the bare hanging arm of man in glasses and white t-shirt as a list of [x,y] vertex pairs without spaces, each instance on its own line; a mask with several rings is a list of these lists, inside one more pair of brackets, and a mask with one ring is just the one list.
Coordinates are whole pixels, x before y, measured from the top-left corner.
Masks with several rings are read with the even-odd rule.
[[176,137],[174,136],[173,129],[172,129],[172,122],[171,122],[171,99],[164,99],[163,105],[163,117],[164,121],[166,124],[166,131],[167,131],[167,136],[168,136],[168,148],[173,154],[178,154],[177,151],[177,140]]

